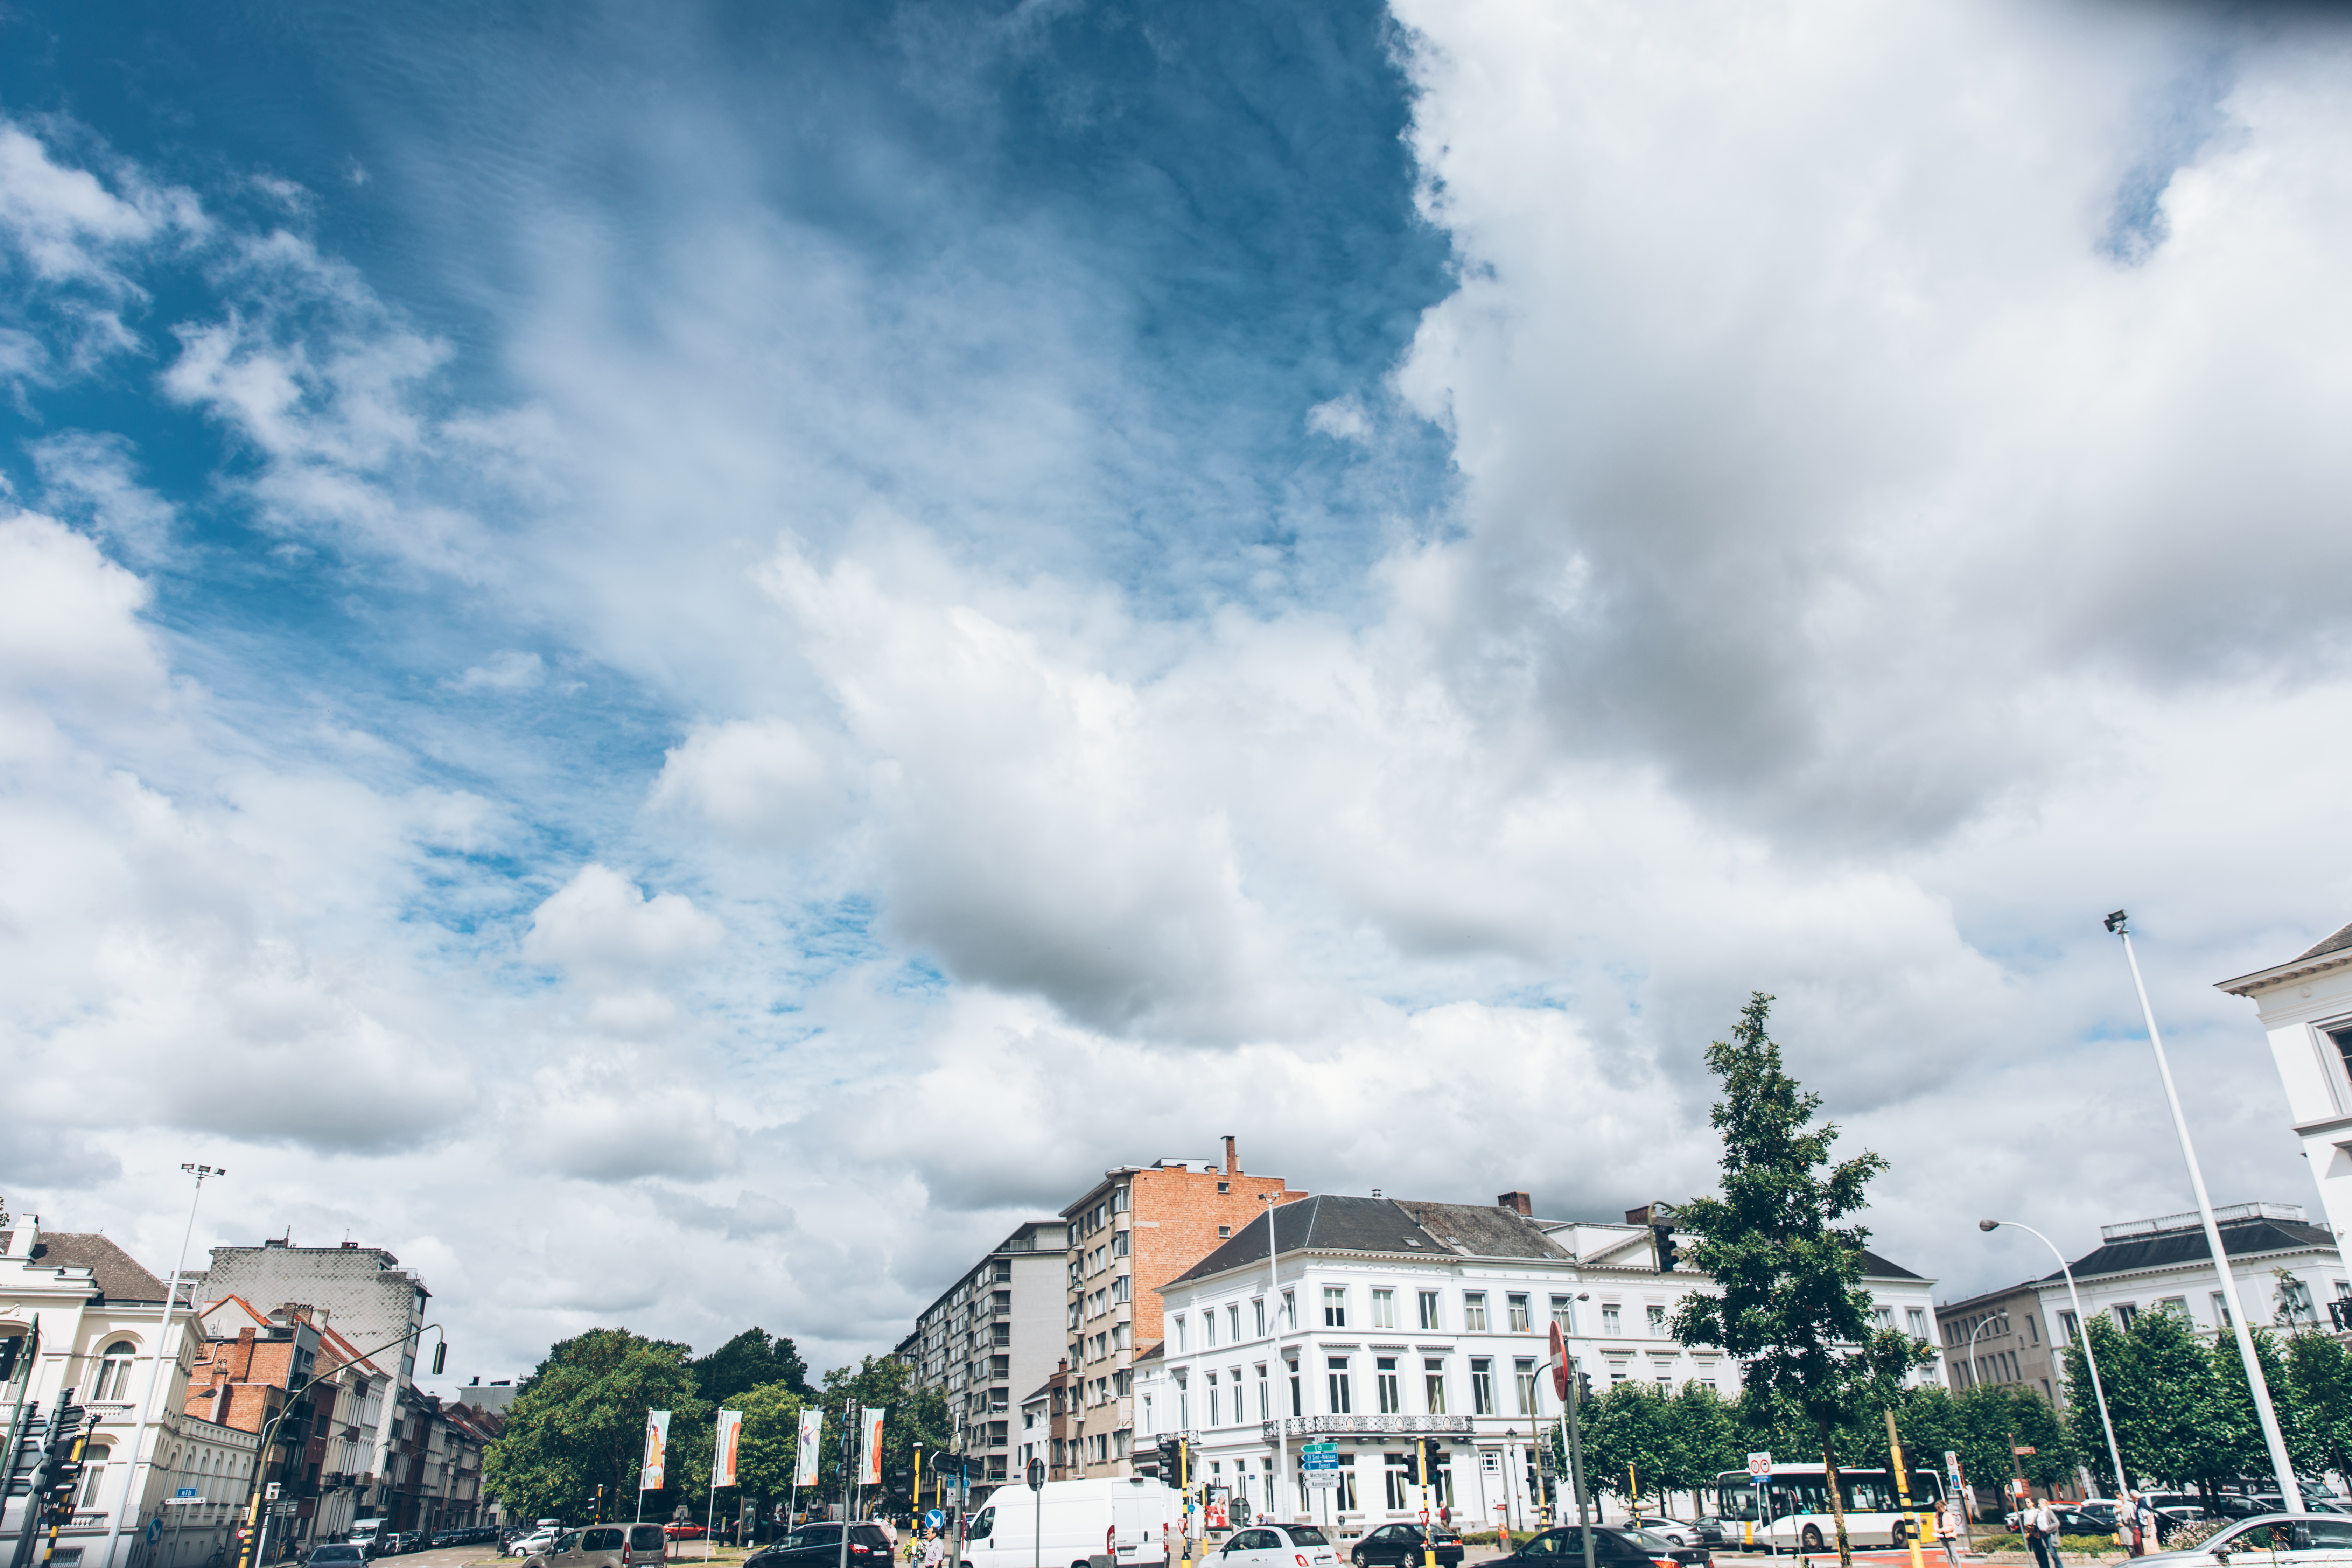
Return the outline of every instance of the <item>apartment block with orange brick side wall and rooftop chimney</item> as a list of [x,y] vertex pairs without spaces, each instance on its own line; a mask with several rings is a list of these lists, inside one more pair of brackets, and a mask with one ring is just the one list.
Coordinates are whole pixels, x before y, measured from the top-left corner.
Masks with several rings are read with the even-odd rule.
[[1136,1453],[1134,1380],[1136,1356],[1162,1340],[1160,1286],[1270,1206],[1303,1197],[1279,1175],[1244,1173],[1235,1140],[1225,1138],[1223,1164],[1120,1166],[1061,1211],[1070,1227],[1065,1366],[1047,1380],[1047,1441],[1058,1479],[1157,1474],[1157,1455]]

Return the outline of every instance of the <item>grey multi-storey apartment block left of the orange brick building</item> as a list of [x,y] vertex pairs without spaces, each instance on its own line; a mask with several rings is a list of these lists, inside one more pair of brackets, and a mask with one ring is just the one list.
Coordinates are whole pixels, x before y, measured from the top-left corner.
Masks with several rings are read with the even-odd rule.
[[898,1342],[915,1387],[948,1396],[974,1502],[1018,1469],[1014,1392],[1035,1389],[1061,1356],[1068,1229],[1065,1220],[1025,1220]]

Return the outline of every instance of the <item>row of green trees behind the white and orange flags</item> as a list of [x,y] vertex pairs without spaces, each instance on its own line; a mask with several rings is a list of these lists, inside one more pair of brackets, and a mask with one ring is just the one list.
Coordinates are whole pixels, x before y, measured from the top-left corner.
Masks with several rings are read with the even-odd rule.
[[647,1519],[680,1507],[699,1519],[710,1497],[710,1460],[720,1408],[741,1410],[736,1486],[720,1497],[720,1514],[757,1514],[793,1493],[800,1413],[826,1413],[823,1472],[816,1497],[840,1495],[840,1434],[847,1401],[884,1408],[882,1469],[910,1469],[915,1443],[941,1453],[950,1436],[948,1401],[938,1389],[913,1387],[913,1371],[896,1359],[866,1356],[809,1385],[809,1368],[788,1338],[746,1328],[708,1356],[675,1340],[649,1340],[628,1328],[590,1328],[548,1349],[506,1408],[506,1429],[482,1453],[482,1490],[499,1497],[508,1519],[635,1516],[637,1467],[644,1458],[644,1413],[670,1413],[663,1486],[644,1493]]

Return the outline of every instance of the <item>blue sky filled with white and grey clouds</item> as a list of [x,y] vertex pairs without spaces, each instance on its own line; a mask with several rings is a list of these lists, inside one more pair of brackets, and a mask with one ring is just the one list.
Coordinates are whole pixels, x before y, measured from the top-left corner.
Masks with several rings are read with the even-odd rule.
[[[2016,0],[0,9],[0,1192],[452,1378],[894,1345],[1101,1171],[1959,1298],[2317,1192],[2352,28]],[[2333,261],[2331,261],[2333,259]]]

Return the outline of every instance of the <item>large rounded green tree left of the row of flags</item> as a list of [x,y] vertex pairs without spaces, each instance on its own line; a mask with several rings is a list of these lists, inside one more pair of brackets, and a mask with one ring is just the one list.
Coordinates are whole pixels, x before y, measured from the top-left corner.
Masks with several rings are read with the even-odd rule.
[[506,1429],[482,1450],[482,1488],[520,1519],[579,1519],[597,1486],[619,1505],[637,1486],[647,1410],[673,1413],[673,1453],[706,1420],[684,1345],[626,1328],[562,1340],[515,1389]]

